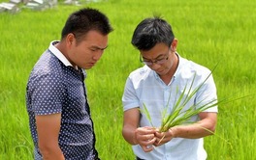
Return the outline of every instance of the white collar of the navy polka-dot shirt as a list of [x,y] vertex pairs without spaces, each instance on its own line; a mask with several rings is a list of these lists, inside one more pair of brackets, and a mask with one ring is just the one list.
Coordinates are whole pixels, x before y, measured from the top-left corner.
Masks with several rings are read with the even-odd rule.
[[54,44],[58,43],[58,40],[53,40],[49,43],[48,50],[55,55],[59,61],[61,61],[66,67],[73,67],[69,60],[54,46]]

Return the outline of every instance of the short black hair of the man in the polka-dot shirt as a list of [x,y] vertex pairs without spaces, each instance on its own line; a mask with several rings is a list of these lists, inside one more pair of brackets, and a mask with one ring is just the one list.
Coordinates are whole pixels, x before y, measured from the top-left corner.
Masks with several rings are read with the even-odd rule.
[[91,30],[98,31],[105,36],[112,32],[113,29],[109,18],[104,13],[96,9],[84,8],[70,14],[62,29],[61,40],[68,34],[73,33],[76,39],[80,41]]

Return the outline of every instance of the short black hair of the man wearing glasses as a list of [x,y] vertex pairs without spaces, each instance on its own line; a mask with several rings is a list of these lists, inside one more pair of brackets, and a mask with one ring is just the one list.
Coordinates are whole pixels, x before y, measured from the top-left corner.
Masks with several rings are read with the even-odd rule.
[[139,50],[149,50],[159,42],[170,46],[175,39],[171,25],[159,16],[145,18],[136,27],[132,44]]

